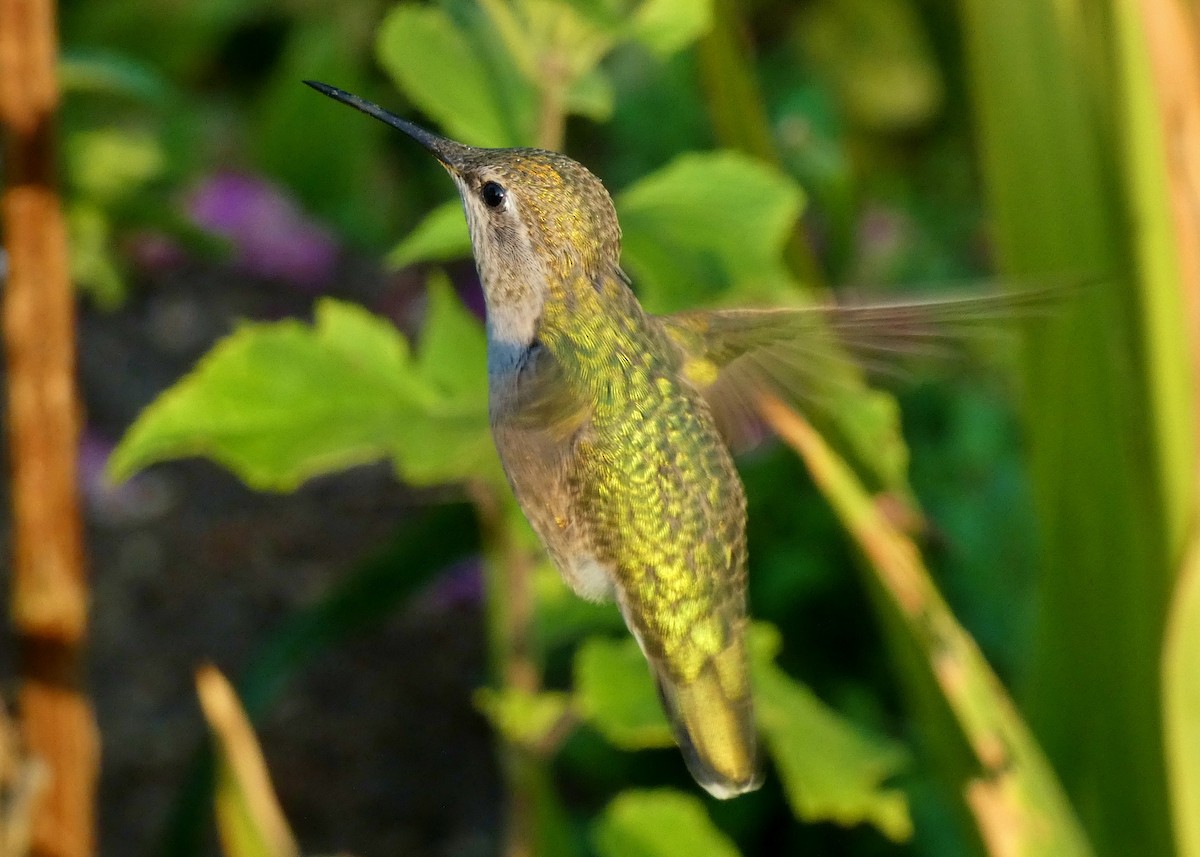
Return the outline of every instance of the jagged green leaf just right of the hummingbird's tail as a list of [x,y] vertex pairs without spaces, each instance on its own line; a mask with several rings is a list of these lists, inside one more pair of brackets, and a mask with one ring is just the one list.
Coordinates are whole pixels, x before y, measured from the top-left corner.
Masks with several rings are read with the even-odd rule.
[[797,817],[866,821],[892,840],[908,839],[905,796],[882,786],[908,763],[904,747],[853,725],[775,666],[774,627],[756,624],[750,642],[758,729]]

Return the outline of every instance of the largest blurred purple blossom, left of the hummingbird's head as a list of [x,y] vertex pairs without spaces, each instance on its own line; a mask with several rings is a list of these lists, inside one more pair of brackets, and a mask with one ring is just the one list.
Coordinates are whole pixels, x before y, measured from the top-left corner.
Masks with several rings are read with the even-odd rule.
[[332,234],[269,181],[218,173],[192,192],[187,214],[200,228],[233,242],[238,265],[254,276],[319,290],[334,275]]

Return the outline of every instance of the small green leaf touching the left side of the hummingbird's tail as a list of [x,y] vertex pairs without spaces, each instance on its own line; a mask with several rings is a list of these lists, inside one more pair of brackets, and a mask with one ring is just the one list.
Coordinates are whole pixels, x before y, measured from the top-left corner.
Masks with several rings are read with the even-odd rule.
[[673,747],[658,691],[631,636],[590,637],[575,653],[580,717],[624,750]]

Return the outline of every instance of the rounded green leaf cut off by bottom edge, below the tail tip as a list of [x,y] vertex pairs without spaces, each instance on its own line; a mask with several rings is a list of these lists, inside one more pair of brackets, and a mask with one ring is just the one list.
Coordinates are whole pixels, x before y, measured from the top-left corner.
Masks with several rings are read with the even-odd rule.
[[592,826],[601,857],[738,857],[738,850],[691,795],[624,791]]

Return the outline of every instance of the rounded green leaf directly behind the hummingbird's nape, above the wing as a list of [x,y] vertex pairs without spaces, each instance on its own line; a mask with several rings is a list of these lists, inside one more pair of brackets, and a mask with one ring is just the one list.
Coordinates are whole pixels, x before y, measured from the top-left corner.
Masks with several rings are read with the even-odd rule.
[[778,293],[802,200],[786,175],[731,151],[682,155],[625,188],[616,200],[624,260],[646,307]]

